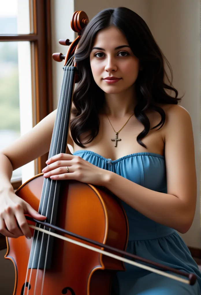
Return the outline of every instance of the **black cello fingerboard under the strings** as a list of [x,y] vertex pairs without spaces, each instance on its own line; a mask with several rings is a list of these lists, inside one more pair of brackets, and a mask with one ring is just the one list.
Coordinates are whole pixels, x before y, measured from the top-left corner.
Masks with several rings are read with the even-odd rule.
[[[64,67],[59,104],[54,123],[48,158],[65,153],[72,108],[76,67]],[[44,178],[38,213],[47,217],[46,222],[56,224],[61,181]],[[37,224],[39,226],[39,224]],[[52,231],[52,230],[51,230]],[[29,268],[51,268],[53,237],[34,232]],[[47,255],[46,255],[47,254]]]

